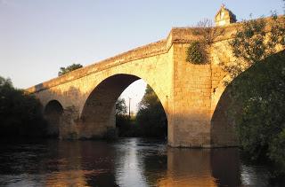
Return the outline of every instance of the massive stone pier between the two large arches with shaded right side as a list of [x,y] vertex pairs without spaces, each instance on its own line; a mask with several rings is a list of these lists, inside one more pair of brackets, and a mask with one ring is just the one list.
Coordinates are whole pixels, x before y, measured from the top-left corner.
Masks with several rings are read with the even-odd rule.
[[[220,99],[224,92],[224,72],[216,56],[225,54],[219,49],[224,43],[218,43],[216,51],[211,51],[212,60],[206,65],[194,65],[185,60],[188,46],[188,43],[173,44],[174,88],[169,104],[168,144],[205,148],[236,146],[238,140],[232,121],[224,114],[227,101]],[[220,104],[221,100],[224,105]]]

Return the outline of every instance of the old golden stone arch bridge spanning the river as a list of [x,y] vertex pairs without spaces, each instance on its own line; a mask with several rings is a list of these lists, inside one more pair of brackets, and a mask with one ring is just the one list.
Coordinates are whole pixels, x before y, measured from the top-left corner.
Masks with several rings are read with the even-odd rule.
[[226,101],[221,62],[234,61],[229,40],[239,23],[218,27],[208,49],[208,64],[186,61],[195,28],[174,27],[165,40],[40,83],[27,91],[38,97],[60,138],[102,137],[115,129],[115,103],[132,82],[142,79],[155,91],[167,114],[167,140],[171,146],[215,147],[237,145],[232,124],[225,120]]

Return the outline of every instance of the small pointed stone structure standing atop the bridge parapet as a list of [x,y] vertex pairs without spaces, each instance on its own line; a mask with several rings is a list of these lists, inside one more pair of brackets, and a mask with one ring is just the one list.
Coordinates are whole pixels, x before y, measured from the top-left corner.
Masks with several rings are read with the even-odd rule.
[[220,10],[215,16],[216,26],[226,26],[236,21],[237,19],[235,15],[232,13],[232,11],[225,8],[224,4],[221,6]]

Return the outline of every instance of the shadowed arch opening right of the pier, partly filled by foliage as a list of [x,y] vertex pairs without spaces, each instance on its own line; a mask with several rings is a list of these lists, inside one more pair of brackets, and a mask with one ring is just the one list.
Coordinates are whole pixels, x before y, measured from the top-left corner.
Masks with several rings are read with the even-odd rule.
[[[284,108],[279,105],[279,98],[284,95],[284,54],[284,51],[280,51],[256,62],[224,88],[211,120],[212,144],[238,145],[240,132],[254,137],[253,135],[263,132],[257,132],[256,129],[263,129],[264,124],[271,124],[271,127],[279,124],[266,120],[272,116],[273,119],[278,119],[280,116],[271,112],[270,108],[278,113]],[[266,118],[266,115],[270,118]]]

